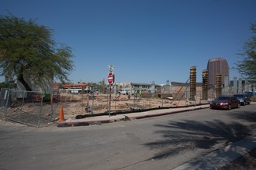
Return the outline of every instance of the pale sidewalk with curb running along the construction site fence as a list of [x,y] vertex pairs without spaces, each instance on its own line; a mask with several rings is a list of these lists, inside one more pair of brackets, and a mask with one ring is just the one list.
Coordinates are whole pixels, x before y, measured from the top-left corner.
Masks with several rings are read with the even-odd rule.
[[190,107],[174,107],[168,109],[147,110],[134,113],[115,114],[115,115],[99,115],[93,117],[85,117],[81,119],[69,118],[65,121],[57,121],[57,127],[86,126],[90,124],[106,124],[115,121],[130,121],[146,117],[157,117],[166,114],[175,114],[184,111],[192,111],[209,108],[209,104],[190,106]]

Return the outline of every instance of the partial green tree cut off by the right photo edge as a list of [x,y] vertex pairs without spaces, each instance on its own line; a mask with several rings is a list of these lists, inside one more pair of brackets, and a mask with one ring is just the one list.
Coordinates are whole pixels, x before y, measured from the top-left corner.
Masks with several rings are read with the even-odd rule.
[[244,60],[237,63],[239,73],[247,78],[251,83],[256,82],[256,23],[251,24],[251,32],[253,36],[244,43],[243,53],[240,56]]

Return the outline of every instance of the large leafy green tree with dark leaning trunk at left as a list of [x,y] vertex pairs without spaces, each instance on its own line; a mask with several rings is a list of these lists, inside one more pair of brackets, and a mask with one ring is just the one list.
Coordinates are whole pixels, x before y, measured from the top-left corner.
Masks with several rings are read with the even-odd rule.
[[0,72],[16,77],[31,91],[32,87],[24,79],[29,75],[33,83],[57,78],[64,82],[73,70],[71,48],[52,38],[53,30],[39,26],[35,20],[17,18],[14,15],[0,15]]

